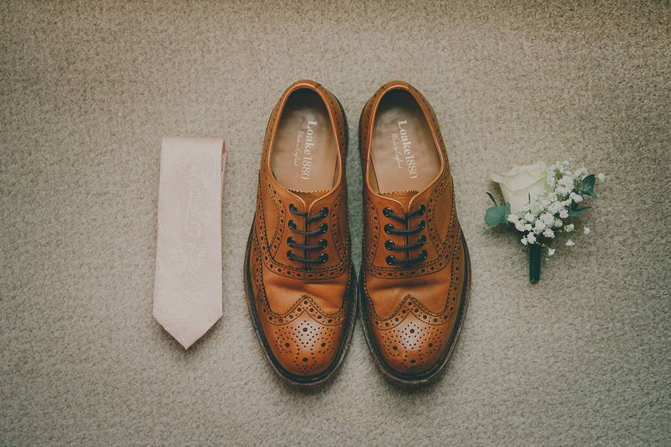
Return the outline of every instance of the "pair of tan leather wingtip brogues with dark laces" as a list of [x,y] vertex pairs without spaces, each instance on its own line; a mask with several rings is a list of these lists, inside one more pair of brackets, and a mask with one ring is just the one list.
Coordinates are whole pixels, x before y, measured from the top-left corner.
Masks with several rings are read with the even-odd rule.
[[380,369],[406,385],[438,374],[466,314],[468,249],[431,106],[406,82],[388,82],[366,103],[359,132],[365,231],[357,284],[342,105],[317,82],[298,81],[266,129],[245,286],[266,357],[295,385],[335,372],[357,305]]

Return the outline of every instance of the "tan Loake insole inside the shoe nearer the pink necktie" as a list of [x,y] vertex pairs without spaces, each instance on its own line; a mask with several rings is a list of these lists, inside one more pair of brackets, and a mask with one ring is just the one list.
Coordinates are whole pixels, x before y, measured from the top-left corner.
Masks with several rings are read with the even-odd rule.
[[338,145],[326,105],[315,91],[298,89],[284,104],[270,168],[292,191],[329,191],[337,178]]

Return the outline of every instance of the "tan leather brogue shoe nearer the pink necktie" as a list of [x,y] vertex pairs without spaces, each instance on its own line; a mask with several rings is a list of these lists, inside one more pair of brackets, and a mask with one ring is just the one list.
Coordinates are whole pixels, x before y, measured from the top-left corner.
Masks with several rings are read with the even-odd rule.
[[352,337],[346,154],[338,99],[308,80],[284,91],[266,129],[245,285],[266,357],[294,385],[328,379]]

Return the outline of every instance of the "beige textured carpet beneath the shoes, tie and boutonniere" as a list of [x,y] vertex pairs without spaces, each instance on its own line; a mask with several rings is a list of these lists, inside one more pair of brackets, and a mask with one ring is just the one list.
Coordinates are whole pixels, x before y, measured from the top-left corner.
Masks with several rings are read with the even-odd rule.
[[[2,2],[0,444],[669,446],[670,10]],[[395,78],[440,119],[473,289],[432,386],[385,381],[359,325],[316,392],[262,356],[243,251],[266,121],[300,78],[331,89],[353,130]],[[229,149],[224,317],[188,352],[151,316],[164,135],[223,135]],[[356,131],[349,143],[360,247]],[[522,247],[484,226],[488,175],[564,158],[607,182],[582,218],[592,235],[530,286]]]

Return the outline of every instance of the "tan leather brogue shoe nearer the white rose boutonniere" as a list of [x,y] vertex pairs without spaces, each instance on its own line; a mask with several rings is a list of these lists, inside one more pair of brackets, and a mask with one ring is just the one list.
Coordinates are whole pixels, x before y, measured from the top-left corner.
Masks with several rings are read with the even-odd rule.
[[454,349],[470,288],[445,143],[424,96],[394,81],[366,103],[359,144],[363,329],[382,372],[424,383]]

